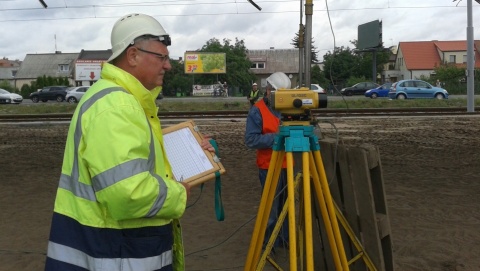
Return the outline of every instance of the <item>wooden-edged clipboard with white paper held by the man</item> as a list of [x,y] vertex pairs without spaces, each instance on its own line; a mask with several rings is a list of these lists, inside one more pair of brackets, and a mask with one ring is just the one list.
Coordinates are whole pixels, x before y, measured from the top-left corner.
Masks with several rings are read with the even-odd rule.
[[163,143],[176,181],[191,186],[213,180],[225,173],[220,158],[202,149],[203,136],[193,120],[162,129]]

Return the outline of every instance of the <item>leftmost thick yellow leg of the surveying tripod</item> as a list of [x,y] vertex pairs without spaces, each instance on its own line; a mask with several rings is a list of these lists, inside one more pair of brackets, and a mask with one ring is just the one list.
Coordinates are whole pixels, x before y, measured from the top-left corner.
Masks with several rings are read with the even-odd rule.
[[273,151],[268,167],[267,177],[263,187],[262,198],[258,207],[257,219],[253,229],[252,239],[248,250],[247,260],[245,262],[245,271],[255,270],[260,254],[262,251],[263,240],[265,238],[265,230],[267,227],[268,217],[272,208],[273,199],[275,197],[276,187],[278,185],[278,177],[282,168],[285,152]]

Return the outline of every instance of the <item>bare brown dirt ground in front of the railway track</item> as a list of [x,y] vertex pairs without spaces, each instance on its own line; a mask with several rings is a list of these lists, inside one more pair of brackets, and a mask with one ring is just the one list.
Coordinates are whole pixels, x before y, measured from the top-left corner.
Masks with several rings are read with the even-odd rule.
[[[197,121],[227,170],[225,220],[214,183],[193,188],[182,218],[187,270],[243,270],[260,184],[244,121]],[[480,118],[336,118],[340,144],[379,147],[397,271],[480,270]],[[43,270],[67,126],[0,124],[0,271]]]

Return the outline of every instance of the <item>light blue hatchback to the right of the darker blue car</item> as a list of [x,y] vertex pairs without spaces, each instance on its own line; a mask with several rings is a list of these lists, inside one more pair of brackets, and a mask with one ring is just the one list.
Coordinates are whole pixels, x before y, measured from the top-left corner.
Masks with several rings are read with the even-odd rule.
[[392,85],[388,96],[391,99],[435,98],[448,99],[448,92],[422,80],[400,80]]

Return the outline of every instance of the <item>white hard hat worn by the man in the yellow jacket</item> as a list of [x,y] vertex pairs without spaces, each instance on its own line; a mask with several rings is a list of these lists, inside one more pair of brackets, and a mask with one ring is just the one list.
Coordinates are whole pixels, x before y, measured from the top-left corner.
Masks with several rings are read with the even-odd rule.
[[113,26],[110,37],[112,56],[108,62],[117,58],[136,38],[143,35],[158,37],[166,46],[171,44],[170,36],[155,18],[139,13],[128,14],[118,19]]

